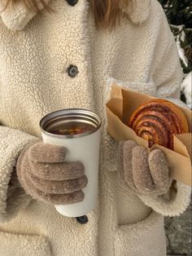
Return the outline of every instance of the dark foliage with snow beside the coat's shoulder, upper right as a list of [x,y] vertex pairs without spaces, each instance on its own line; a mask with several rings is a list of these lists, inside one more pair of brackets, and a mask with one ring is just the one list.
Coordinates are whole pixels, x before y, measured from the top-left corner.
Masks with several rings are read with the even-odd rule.
[[192,0],[159,0],[177,42],[181,66],[185,73],[181,99],[191,109],[192,87]]

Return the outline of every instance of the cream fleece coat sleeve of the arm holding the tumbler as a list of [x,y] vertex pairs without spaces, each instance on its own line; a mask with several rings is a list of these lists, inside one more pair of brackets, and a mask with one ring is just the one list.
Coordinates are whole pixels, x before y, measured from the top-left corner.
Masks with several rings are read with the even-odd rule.
[[16,160],[28,143],[37,137],[0,124],[0,222],[7,222],[31,200],[15,174]]

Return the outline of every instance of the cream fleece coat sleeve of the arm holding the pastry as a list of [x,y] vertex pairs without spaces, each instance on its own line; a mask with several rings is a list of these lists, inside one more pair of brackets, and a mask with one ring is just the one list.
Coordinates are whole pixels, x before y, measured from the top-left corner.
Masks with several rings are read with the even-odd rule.
[[[181,81],[183,73],[178,56],[177,46],[169,29],[163,8],[155,3],[159,9],[159,29],[156,38],[155,52],[161,52],[161,57],[153,59],[151,64],[151,78],[157,87],[157,97],[167,98],[177,105],[185,106],[180,100]],[[185,170],[183,170],[185,172]],[[182,214],[190,204],[191,188],[177,182],[177,192],[163,196],[139,196],[140,199],[156,212],[165,216]]]

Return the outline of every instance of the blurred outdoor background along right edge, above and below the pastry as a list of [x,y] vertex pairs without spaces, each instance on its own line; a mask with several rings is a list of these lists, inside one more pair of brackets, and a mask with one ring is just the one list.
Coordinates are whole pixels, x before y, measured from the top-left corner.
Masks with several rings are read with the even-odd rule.
[[[159,0],[164,7],[170,29],[177,42],[177,48],[183,68],[184,80],[181,84],[181,100],[189,108],[191,105],[192,87],[192,0]],[[192,206],[180,217],[165,218],[168,255],[192,255]]]

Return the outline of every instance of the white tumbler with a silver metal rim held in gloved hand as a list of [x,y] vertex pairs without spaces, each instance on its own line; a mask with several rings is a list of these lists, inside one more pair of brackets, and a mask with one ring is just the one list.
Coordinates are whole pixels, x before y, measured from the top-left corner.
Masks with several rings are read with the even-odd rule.
[[[50,131],[68,122],[83,122],[93,126],[93,130],[79,135],[55,135]],[[79,217],[93,210],[98,196],[98,163],[101,118],[98,114],[81,108],[68,108],[50,113],[40,121],[44,143],[67,148],[66,161],[81,161],[85,166],[88,184],[83,189],[84,201],[71,205],[55,205],[56,210],[67,217]]]

